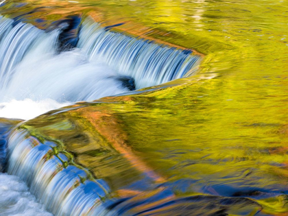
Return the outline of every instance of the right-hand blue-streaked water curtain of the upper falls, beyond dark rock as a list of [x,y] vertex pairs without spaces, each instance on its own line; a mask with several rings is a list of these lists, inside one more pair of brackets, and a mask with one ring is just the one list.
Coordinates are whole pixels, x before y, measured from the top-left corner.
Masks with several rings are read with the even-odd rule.
[[91,19],[84,21],[77,47],[84,49],[91,61],[101,58],[119,73],[134,77],[136,88],[191,75],[200,60],[189,50],[111,32]]

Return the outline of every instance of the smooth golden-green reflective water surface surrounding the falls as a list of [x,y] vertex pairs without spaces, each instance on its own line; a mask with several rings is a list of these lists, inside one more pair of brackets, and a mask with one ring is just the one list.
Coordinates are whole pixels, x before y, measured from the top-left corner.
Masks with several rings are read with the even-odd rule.
[[64,143],[112,197],[128,197],[113,206],[119,214],[287,215],[287,1],[5,1],[0,11],[39,29],[90,16],[115,32],[205,54],[197,74],[167,88],[26,123],[35,136]]

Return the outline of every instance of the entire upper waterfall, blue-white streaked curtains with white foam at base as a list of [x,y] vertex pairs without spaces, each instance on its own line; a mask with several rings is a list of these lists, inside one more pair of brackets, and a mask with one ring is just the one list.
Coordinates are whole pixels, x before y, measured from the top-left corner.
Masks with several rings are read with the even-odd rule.
[[200,59],[110,32],[91,19],[82,24],[77,46],[59,53],[61,27],[45,32],[0,16],[0,116],[29,119],[71,102],[169,82],[190,75]]

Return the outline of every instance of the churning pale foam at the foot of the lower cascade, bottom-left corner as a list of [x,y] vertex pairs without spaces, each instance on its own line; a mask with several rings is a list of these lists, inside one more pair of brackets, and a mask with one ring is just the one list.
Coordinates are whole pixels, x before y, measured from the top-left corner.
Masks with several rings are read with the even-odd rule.
[[53,216],[17,176],[0,173],[0,216]]

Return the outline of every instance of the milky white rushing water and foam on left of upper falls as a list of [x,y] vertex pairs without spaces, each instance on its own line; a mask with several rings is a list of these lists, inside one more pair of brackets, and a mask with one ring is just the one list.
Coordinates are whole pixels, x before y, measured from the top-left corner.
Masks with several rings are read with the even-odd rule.
[[80,49],[57,53],[59,31],[0,16],[0,117],[32,119],[74,101],[128,91],[106,64]]

